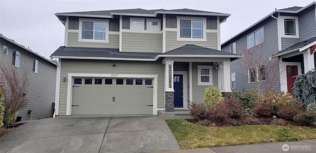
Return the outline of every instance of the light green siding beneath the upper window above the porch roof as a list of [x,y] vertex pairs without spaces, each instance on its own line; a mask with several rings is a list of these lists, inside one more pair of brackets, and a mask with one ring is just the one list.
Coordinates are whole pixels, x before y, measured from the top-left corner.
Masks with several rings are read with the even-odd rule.
[[177,31],[166,31],[166,52],[186,44],[195,44],[217,50],[217,33],[207,32],[206,39],[207,41],[177,41]]

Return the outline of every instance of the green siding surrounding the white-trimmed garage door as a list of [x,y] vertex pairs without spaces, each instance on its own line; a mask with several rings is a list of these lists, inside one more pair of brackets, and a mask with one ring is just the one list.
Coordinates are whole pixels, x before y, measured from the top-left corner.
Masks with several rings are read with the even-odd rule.
[[[59,114],[66,115],[68,73],[158,75],[158,108],[164,108],[164,65],[161,61],[61,60]],[[116,63],[117,66],[111,64]]]

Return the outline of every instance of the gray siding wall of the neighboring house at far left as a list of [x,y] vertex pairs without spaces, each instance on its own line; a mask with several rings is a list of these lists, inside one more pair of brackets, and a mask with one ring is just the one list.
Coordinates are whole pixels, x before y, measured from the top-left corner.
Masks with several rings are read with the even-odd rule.
[[[3,44],[8,47],[7,55],[2,54]],[[24,70],[30,71],[28,77],[28,93],[26,94],[28,104],[25,108],[18,111],[18,116],[22,116],[22,120],[37,120],[51,117],[53,114],[52,103],[55,102],[56,65],[45,61],[6,40],[1,39],[0,45],[1,66],[7,66],[10,69],[14,68],[20,72]],[[20,67],[11,65],[12,49],[20,52]],[[33,72],[34,59],[39,61],[38,73]],[[30,116],[27,113],[28,109],[33,109],[33,113]]]

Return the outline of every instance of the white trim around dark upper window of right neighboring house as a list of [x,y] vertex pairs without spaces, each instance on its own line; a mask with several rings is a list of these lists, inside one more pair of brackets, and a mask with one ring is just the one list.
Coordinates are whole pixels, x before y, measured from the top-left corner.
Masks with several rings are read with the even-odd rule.
[[[285,35],[284,19],[295,19],[296,35]],[[299,27],[298,27],[298,17],[297,16],[279,16],[278,17],[278,22],[279,22],[279,28],[280,28],[279,29],[280,37],[285,37],[285,38],[299,38],[300,37]]]

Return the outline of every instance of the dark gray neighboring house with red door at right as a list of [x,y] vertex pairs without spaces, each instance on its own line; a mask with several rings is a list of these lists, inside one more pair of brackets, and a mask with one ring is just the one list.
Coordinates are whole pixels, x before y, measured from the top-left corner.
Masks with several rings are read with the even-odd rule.
[[[278,9],[249,28],[222,43],[222,51],[246,55],[253,52],[253,61],[262,61],[255,67],[248,67],[243,60],[231,63],[232,90],[255,89],[258,81],[267,82],[265,76],[253,77],[251,69],[264,70],[271,60],[275,81],[270,89],[292,92],[296,75],[315,69],[316,47],[316,2],[305,7]],[[262,55],[262,56],[259,56]],[[257,57],[256,57],[257,56]],[[258,59],[262,57],[262,59]],[[257,67],[256,67],[257,66]],[[267,82],[267,84],[269,84]]]

